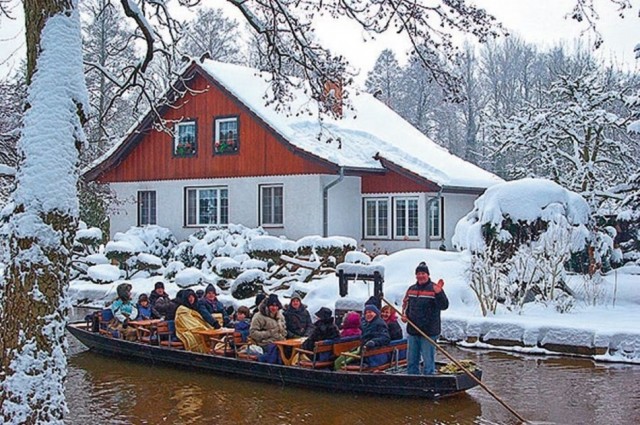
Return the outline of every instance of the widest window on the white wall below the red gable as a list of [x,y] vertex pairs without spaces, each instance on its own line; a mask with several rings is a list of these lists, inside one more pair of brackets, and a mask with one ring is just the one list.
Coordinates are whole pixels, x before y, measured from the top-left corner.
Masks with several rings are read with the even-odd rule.
[[187,226],[229,224],[229,191],[226,188],[187,188]]

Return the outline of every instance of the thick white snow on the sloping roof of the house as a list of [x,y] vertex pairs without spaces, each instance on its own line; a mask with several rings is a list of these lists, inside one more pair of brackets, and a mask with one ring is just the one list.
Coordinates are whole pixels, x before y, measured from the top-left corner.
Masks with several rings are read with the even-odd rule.
[[[368,93],[351,95],[354,110],[345,109],[342,119],[320,121],[317,112],[310,112],[309,96],[302,89],[292,89],[291,113],[284,114],[265,105],[270,90],[266,74],[212,60],[201,67],[289,143],[339,166],[382,169],[374,159],[380,153],[440,186],[486,188],[503,181],[449,153]],[[334,141],[319,141],[320,134]]]

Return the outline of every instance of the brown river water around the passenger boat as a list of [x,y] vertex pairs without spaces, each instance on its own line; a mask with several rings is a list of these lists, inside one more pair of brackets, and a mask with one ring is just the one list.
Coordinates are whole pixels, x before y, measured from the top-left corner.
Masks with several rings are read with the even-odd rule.
[[[515,424],[480,388],[439,401],[334,394],[92,352],[70,337],[68,424]],[[531,422],[640,424],[640,366],[461,350]]]

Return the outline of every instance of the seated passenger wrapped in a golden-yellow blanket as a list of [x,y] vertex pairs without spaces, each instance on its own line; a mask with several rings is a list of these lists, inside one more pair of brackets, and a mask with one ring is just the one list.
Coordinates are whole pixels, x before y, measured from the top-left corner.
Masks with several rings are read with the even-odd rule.
[[198,311],[198,297],[192,289],[183,290],[181,297],[180,306],[176,310],[176,336],[182,341],[186,350],[207,353],[209,348],[205,339],[195,332],[213,329],[213,327],[204,321]]

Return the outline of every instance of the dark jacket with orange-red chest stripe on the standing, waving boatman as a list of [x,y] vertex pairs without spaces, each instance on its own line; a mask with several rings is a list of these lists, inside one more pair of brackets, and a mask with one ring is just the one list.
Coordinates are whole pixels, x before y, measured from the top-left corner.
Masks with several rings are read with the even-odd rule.
[[[433,287],[431,279],[422,285],[416,282],[407,289],[402,301],[404,314],[427,336],[440,335],[440,311],[449,308],[449,299],[444,291],[436,294]],[[407,333],[420,335],[411,325],[407,325]]]

